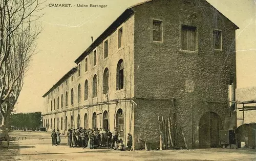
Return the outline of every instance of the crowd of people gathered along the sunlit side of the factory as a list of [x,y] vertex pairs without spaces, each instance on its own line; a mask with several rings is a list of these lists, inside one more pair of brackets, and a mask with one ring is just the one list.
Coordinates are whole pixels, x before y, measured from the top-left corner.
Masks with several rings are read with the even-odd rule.
[[[82,147],[96,149],[97,147],[107,147],[108,149],[115,150],[125,150],[123,140],[118,139],[118,133],[122,132],[117,131],[117,128],[114,128],[113,132],[110,130],[105,130],[104,128],[93,128],[93,129],[69,129],[68,136],[68,145],[69,147]],[[60,143],[60,133],[59,130],[55,132],[55,129],[52,132],[52,145],[58,145]],[[127,147],[128,150],[132,148],[132,135],[128,133],[127,137]]]

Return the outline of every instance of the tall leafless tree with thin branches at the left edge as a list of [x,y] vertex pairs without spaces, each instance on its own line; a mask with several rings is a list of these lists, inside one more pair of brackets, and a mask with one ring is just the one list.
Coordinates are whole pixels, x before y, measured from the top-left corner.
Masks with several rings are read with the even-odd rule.
[[[6,125],[24,83],[31,56],[40,33],[39,0],[0,2],[0,113]],[[33,24],[35,26],[33,26]]]

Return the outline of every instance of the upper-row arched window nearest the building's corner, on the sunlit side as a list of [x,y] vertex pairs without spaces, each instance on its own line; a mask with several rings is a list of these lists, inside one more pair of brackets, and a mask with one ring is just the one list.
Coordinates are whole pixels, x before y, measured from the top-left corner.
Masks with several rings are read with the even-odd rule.
[[124,63],[123,63],[123,60],[120,59],[116,69],[116,90],[123,89],[123,82],[124,82],[123,74],[124,74]]

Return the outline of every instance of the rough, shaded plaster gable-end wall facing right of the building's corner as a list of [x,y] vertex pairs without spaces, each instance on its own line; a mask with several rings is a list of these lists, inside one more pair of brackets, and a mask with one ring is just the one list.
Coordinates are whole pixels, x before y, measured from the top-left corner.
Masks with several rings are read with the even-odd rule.
[[[236,88],[235,30],[227,18],[205,1],[197,1],[197,7],[182,2],[152,1],[134,9],[135,97],[181,97],[176,105],[177,122],[189,148],[196,148],[199,121],[204,113],[217,113],[222,124],[230,116],[227,103],[205,101],[228,101],[230,80]],[[188,21],[194,13],[196,18]],[[153,42],[152,19],[163,21],[163,43]],[[182,24],[197,27],[198,51],[181,50]],[[213,49],[213,29],[222,30],[221,51]],[[150,133],[158,133],[157,115],[166,116],[169,104],[150,99],[136,102],[135,140],[143,136],[157,143],[159,138]]]

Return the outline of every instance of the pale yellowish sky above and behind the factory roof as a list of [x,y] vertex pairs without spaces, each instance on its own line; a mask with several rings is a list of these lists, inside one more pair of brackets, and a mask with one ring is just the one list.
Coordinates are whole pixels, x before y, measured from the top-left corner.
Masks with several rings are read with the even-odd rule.
[[[156,0],[158,1],[158,0]],[[42,32],[32,57],[16,112],[42,111],[44,95],[75,59],[128,7],[144,0],[47,0],[38,20]],[[236,31],[237,88],[256,86],[256,0],[207,0],[240,29]],[[57,8],[49,4],[108,5],[106,8]]]

